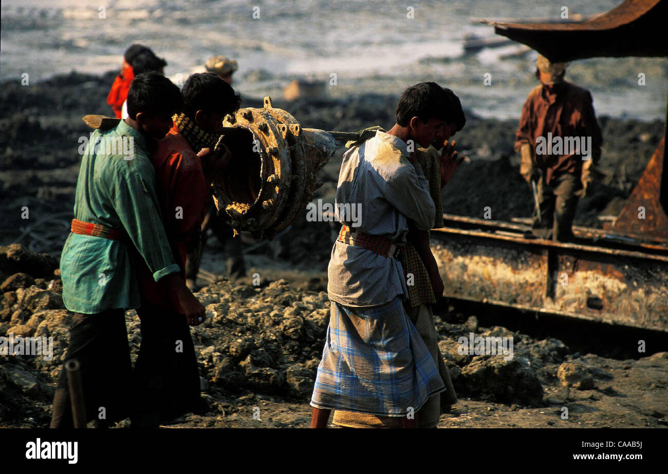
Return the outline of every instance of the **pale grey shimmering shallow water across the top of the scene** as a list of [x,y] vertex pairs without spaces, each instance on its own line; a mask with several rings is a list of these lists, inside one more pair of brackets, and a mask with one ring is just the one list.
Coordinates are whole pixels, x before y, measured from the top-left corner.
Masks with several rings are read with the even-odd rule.
[[[72,69],[100,73],[120,68],[130,43],[144,43],[168,61],[166,74],[185,79],[215,54],[238,60],[235,87],[253,97],[274,95],[295,77],[327,83],[329,95],[398,95],[423,80],[451,87],[464,106],[484,117],[518,117],[532,76],[535,52],[504,57],[511,45],[464,55],[464,35],[494,36],[472,18],[557,19],[561,2],[484,0],[39,0],[2,2],[0,81],[29,73],[31,81]],[[593,15],[618,0],[570,7]],[[259,18],[253,18],[259,7]],[[255,10],[256,12],[258,10]],[[257,15],[256,15],[257,16]],[[637,84],[645,73],[647,85]],[[484,74],[492,85],[484,85]],[[336,85],[331,85],[332,74]],[[591,89],[598,113],[651,120],[665,117],[667,59],[576,61],[568,78]]]

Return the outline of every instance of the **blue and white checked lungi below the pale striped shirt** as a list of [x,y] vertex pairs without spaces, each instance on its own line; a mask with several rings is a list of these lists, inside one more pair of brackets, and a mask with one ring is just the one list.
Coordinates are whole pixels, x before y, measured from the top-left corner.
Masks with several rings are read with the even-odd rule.
[[365,307],[331,302],[311,406],[403,417],[444,389],[401,298]]

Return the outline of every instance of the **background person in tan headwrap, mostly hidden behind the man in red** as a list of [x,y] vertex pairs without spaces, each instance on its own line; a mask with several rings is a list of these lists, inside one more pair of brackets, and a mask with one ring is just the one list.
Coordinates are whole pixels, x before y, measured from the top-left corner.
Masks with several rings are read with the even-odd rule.
[[[238,65],[236,61],[228,59],[224,56],[214,56],[204,63],[206,72],[214,73],[220,79],[223,79],[228,84],[232,85],[232,74]],[[221,124],[222,126],[222,124]],[[228,254],[226,262],[227,273],[230,278],[241,278],[246,276],[246,262],[244,261],[243,246],[240,236],[234,238],[234,230],[218,216],[216,205],[213,198],[209,198],[208,211],[204,220],[202,220],[201,246],[188,254],[186,258],[186,284],[190,290],[198,290],[197,274],[200,270],[200,262],[202,261],[202,253],[208,240],[208,231],[218,238],[218,242],[223,248],[223,251]]]

